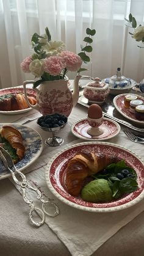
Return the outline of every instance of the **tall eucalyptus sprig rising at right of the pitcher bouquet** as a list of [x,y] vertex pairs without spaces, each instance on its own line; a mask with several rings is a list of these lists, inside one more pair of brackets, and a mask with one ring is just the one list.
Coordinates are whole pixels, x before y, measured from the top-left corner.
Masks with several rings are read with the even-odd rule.
[[[83,40],[84,42],[86,42],[86,45],[85,46],[81,45],[81,53],[78,53],[78,55],[81,57],[81,59],[84,63],[90,62],[90,57],[87,56],[86,53],[92,53],[93,48],[90,44],[93,42],[93,39],[90,36],[95,35],[96,31],[95,31],[95,29],[90,29],[89,27],[87,27],[86,34],[88,36],[85,37]],[[85,70],[87,70],[87,68],[79,68],[79,70],[77,72],[80,73]]]

